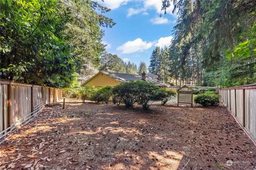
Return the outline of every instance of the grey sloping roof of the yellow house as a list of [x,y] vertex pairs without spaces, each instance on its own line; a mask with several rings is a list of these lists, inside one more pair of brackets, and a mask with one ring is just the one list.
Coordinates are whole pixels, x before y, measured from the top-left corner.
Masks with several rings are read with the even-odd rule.
[[[108,75],[109,77],[119,81],[119,82],[128,82],[132,80],[141,80],[141,75],[135,74],[125,74],[125,73],[113,73],[113,72],[105,72],[102,73]],[[169,84],[158,80],[158,75],[148,73],[146,74],[146,81],[150,83],[154,83],[156,86],[169,86]]]

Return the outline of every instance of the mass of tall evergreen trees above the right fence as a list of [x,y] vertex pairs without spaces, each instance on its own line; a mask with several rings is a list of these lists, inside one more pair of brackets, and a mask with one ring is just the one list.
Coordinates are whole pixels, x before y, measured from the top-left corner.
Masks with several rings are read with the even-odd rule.
[[255,1],[162,3],[179,16],[166,61],[171,78],[218,87],[256,82]]

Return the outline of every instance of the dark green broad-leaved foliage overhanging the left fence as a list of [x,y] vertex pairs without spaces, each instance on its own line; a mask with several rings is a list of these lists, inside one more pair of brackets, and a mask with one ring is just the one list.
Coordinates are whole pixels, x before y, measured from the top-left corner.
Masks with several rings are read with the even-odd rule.
[[10,2],[0,2],[1,78],[68,86],[75,71],[73,48],[63,32],[70,11],[57,0]]

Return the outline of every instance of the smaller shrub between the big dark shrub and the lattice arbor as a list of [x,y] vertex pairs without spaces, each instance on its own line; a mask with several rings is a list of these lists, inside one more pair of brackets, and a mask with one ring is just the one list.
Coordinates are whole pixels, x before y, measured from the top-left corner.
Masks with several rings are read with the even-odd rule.
[[176,95],[177,95],[177,92],[174,90],[159,88],[156,91],[153,99],[161,99],[162,105],[165,105],[168,100],[170,100],[171,98],[173,98]]

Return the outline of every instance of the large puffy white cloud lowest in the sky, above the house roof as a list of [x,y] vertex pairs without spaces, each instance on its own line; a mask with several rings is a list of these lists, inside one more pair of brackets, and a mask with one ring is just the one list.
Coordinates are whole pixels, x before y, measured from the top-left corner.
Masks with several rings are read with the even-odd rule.
[[154,45],[154,42],[142,41],[141,38],[137,38],[133,41],[127,41],[122,46],[117,47],[118,51],[121,51],[123,54],[134,53],[138,51],[143,51],[149,49]]

